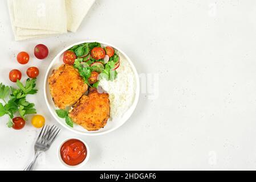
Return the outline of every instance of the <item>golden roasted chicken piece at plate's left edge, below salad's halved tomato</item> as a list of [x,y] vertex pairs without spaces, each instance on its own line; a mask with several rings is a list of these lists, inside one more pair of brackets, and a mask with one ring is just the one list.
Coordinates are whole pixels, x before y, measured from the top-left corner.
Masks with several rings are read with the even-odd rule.
[[56,107],[72,106],[87,91],[88,85],[72,65],[63,64],[48,78],[52,100]]

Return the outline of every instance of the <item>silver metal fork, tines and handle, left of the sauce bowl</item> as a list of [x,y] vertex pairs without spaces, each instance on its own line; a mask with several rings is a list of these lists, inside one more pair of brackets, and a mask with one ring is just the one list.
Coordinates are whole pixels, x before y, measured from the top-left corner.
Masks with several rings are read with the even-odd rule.
[[53,125],[52,127],[46,125],[43,126],[43,129],[40,131],[40,134],[38,136],[38,139],[35,142],[35,156],[32,162],[27,166],[24,171],[32,171],[32,168],[34,167],[35,161],[38,158],[42,152],[47,151],[50,147],[52,142],[54,142],[54,139],[58,135],[60,129]]

